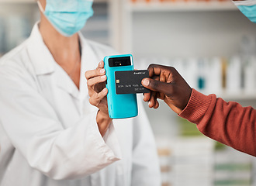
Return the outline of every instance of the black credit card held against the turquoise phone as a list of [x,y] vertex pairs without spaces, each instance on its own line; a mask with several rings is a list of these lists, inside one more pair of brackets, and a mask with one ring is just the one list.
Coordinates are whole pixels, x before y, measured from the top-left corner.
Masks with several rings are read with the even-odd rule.
[[116,95],[149,93],[141,81],[149,77],[147,70],[139,71],[116,71]]

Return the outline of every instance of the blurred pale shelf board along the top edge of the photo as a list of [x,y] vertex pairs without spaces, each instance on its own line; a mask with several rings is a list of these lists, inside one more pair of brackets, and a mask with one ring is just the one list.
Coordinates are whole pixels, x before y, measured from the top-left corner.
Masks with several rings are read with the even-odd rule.
[[178,11],[230,11],[237,10],[233,2],[130,2],[126,9],[131,12],[178,12]]

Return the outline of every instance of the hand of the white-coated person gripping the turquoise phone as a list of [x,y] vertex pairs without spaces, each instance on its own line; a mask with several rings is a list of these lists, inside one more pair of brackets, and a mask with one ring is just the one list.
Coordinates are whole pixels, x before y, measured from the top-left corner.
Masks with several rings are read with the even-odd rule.
[[101,61],[98,67],[92,71],[86,71],[85,77],[87,79],[89,102],[91,105],[99,108],[96,121],[99,126],[99,132],[102,136],[105,135],[109,128],[112,119],[109,118],[108,102],[106,95],[108,89],[106,88],[106,71],[104,69],[104,62]]

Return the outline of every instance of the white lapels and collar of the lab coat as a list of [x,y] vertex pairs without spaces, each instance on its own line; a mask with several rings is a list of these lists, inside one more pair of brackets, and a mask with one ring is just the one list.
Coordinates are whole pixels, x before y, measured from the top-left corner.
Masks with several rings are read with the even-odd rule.
[[94,50],[85,40],[84,36],[79,33],[81,42],[81,74],[80,74],[80,91],[74,85],[71,78],[64,70],[55,62],[54,57],[43,42],[43,38],[38,28],[39,22],[33,27],[31,36],[29,37],[28,53],[33,63],[36,75],[53,74],[54,81],[57,86],[67,91],[74,98],[83,100],[88,95],[88,88],[85,79],[85,71],[95,69],[99,63],[99,57],[96,56]]

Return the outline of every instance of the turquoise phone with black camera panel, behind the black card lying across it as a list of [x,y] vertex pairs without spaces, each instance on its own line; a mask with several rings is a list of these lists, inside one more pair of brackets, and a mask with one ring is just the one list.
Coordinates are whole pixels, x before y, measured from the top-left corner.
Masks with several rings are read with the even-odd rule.
[[116,94],[116,71],[133,71],[133,56],[131,54],[107,56],[104,58],[106,70],[106,88],[109,117],[112,119],[125,119],[138,115],[137,95],[136,94]]

